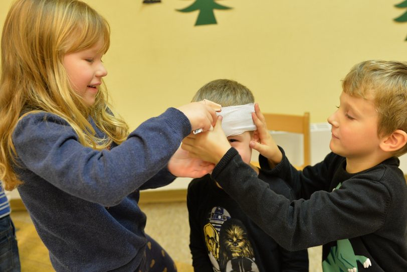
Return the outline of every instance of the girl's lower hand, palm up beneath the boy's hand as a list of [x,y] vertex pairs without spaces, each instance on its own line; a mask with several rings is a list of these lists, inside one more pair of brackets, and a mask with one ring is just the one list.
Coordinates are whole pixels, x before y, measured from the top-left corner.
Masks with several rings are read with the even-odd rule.
[[200,178],[211,173],[214,168],[212,163],[189,157],[188,152],[181,149],[181,146],[168,162],[168,171],[176,177]]

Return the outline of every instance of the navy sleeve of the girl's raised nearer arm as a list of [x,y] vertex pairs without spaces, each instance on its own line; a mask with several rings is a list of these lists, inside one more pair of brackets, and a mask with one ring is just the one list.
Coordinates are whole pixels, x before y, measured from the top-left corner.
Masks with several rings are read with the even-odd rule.
[[13,143],[19,166],[38,179],[73,196],[113,206],[163,169],[189,132],[186,116],[169,108],[143,122],[121,145],[97,151],[81,145],[64,119],[35,113],[18,122]]

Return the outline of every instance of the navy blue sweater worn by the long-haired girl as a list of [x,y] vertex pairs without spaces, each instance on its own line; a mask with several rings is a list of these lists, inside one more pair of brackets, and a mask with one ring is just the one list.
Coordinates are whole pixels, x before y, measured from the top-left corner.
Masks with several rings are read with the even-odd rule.
[[57,115],[18,122],[18,191],[57,271],[135,271],[146,246],[139,190],[174,180],[166,165],[190,131],[186,116],[169,108],[121,145],[96,151]]

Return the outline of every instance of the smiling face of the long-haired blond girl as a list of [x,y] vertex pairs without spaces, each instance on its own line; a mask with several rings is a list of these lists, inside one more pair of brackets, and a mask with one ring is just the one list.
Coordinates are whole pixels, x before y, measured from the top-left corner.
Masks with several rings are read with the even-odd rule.
[[98,88],[102,84],[102,77],[107,75],[102,62],[102,42],[83,51],[66,54],[64,67],[68,74],[72,88],[83,98],[85,105],[95,103]]

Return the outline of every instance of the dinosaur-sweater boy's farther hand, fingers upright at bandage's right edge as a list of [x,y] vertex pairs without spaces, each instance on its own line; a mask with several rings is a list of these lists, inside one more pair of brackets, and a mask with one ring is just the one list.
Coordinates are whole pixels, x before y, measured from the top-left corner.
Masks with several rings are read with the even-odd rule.
[[255,139],[258,139],[258,142],[251,141],[250,147],[266,157],[269,160],[270,166],[273,167],[281,162],[283,154],[267,129],[266,119],[260,111],[258,103],[255,104],[255,112],[252,113],[252,118],[257,127],[257,130],[255,131]]

